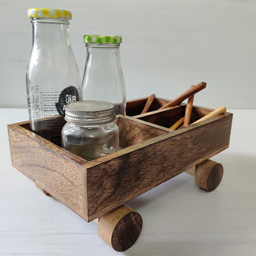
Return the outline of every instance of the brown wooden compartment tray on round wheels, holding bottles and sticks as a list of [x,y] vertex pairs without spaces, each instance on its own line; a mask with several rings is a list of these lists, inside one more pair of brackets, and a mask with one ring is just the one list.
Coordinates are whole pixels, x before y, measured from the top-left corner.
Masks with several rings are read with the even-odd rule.
[[[97,221],[99,237],[117,251],[132,246],[142,228],[127,201],[183,172],[214,190],[223,166],[209,158],[229,146],[231,113],[172,131],[186,104],[158,110],[168,100],[156,98],[150,112],[140,114],[146,100],[127,102],[127,147],[93,161],[33,133],[29,121],[8,125],[12,165],[82,219]],[[212,111],[194,106],[191,122]]]

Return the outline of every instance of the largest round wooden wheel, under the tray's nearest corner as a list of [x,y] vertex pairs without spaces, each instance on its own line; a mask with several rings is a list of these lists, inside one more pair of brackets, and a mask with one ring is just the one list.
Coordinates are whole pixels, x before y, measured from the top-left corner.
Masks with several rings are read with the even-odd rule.
[[98,219],[99,237],[116,251],[125,251],[138,239],[142,229],[140,214],[126,205]]

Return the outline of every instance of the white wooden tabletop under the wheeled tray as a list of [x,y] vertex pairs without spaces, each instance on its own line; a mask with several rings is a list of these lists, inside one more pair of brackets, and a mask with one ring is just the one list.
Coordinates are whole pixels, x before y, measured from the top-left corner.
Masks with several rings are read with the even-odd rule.
[[256,110],[234,113],[220,186],[207,193],[181,174],[127,203],[143,218],[142,233],[125,252],[98,238],[66,206],[42,194],[11,166],[7,124],[26,109],[0,109],[0,255],[256,255]]

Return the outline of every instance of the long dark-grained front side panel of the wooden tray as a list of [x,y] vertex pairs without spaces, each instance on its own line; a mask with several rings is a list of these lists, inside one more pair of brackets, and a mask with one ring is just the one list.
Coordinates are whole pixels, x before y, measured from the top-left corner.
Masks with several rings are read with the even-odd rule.
[[88,168],[89,221],[223,151],[231,122],[230,114]]

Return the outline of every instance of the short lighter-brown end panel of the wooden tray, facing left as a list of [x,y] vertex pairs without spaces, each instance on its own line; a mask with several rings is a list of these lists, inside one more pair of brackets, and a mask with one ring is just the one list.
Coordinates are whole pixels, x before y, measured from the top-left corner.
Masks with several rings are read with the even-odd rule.
[[41,144],[36,136],[32,139],[23,129],[8,125],[13,167],[87,221],[86,169]]

